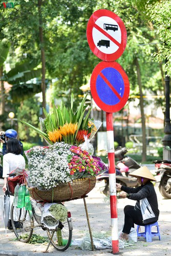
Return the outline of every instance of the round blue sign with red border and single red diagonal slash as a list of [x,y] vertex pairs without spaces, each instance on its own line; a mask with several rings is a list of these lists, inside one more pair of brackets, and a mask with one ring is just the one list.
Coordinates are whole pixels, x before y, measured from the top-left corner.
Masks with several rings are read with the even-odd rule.
[[129,79],[117,62],[102,61],[93,70],[90,90],[96,104],[105,112],[121,110],[130,93]]

